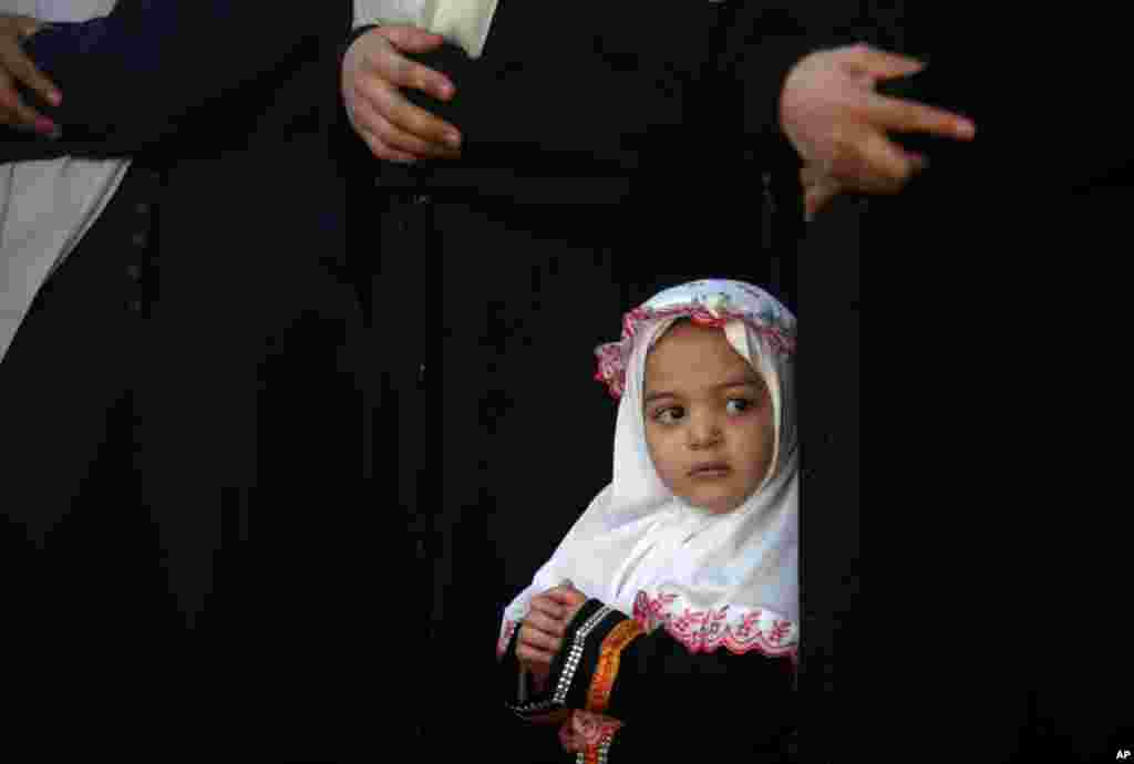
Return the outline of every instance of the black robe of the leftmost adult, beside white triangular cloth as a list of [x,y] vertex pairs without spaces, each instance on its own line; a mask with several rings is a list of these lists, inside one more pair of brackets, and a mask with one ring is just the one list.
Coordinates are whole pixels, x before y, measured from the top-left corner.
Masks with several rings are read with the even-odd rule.
[[[100,220],[0,367],[7,630],[73,684],[163,676],[147,711],[176,712],[177,739],[273,761],[359,744],[345,678],[376,644],[384,536],[358,499],[361,313],[330,129],[350,17],[122,0],[27,43],[64,94],[44,107],[61,139],[0,142],[3,161],[133,158],[152,182],[111,205],[156,210],[142,285],[130,224]],[[128,331],[91,331],[119,295],[144,304]],[[202,688],[230,724],[181,713]]]

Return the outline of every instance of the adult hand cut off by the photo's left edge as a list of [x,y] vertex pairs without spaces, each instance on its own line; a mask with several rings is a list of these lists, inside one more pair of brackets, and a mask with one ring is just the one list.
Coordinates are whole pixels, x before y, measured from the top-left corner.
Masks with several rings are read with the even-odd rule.
[[54,84],[24,52],[24,39],[40,26],[29,16],[0,14],[0,125],[53,133],[56,124],[24,103],[17,90],[23,84],[51,105],[59,105],[61,100]]

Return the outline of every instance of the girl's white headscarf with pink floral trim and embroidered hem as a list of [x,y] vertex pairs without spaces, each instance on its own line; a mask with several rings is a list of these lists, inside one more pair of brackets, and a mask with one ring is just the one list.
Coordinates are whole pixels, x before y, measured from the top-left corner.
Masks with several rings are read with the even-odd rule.
[[[645,442],[649,349],[678,319],[719,326],[771,393],[775,457],[737,509],[713,515],[662,484]],[[751,285],[711,280],[667,289],[626,315],[623,340],[601,346],[598,379],[620,396],[613,478],[551,559],[505,609],[500,650],[531,600],[570,582],[586,596],[663,627],[691,652],[721,646],[795,657],[799,638],[798,440],[792,356],[795,317]]]

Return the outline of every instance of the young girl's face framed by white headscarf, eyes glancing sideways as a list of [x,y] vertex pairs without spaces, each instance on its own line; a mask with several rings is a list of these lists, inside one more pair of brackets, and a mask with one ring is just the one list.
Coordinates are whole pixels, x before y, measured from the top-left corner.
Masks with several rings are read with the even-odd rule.
[[679,321],[645,363],[645,440],[675,495],[713,513],[751,496],[771,467],[768,388],[720,329]]

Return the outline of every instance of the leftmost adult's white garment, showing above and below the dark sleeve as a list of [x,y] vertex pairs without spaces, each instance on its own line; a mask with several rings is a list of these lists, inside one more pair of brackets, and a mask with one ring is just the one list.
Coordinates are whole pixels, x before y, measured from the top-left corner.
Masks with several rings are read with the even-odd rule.
[[[48,22],[83,22],[113,6],[115,0],[0,0],[5,12]],[[128,165],[71,156],[0,165],[0,360],[36,292],[98,220]]]

